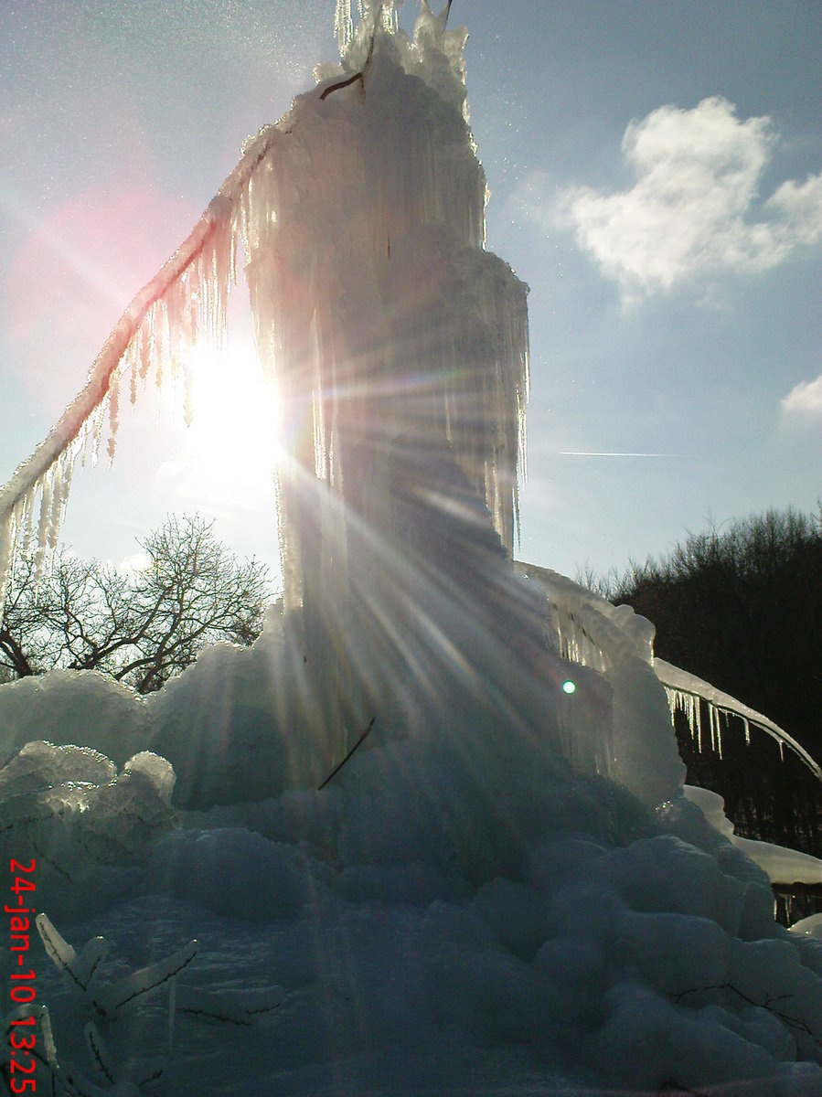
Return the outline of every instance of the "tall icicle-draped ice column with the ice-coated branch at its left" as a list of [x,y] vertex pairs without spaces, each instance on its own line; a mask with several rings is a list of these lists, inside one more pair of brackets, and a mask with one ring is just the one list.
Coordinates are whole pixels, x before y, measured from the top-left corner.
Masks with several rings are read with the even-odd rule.
[[[465,32],[423,4],[412,41],[383,3],[367,5],[349,37],[349,14],[337,13],[341,66],[246,143],[189,239],[130,305],[87,387],[0,493],[0,589],[13,546],[30,536],[35,497],[42,556],[74,461],[85,443],[97,451],[106,418],[114,453],[126,378],[136,398],[150,370],[185,372],[193,340],[219,339],[241,265],[286,453],[283,658],[322,668],[304,695],[280,702],[313,737],[304,758],[292,751],[295,779],[306,767],[322,777],[378,715],[437,734],[465,693],[477,727],[536,723],[578,770],[612,772],[609,691],[581,674],[575,704],[558,704],[555,682],[545,683],[544,597],[508,561],[527,287],[483,247]],[[486,643],[465,667],[459,653],[475,631]],[[519,680],[513,653],[531,668]],[[559,663],[552,674],[562,677]],[[455,682],[460,697],[449,695]],[[645,790],[652,802],[680,776],[660,727],[668,757]]]

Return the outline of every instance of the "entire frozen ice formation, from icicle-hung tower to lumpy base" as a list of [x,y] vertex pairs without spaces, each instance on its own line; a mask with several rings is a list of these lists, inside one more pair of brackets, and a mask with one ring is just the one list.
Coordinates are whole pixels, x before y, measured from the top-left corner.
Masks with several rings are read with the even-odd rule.
[[122,381],[219,338],[245,272],[282,602],[147,700],[0,688],[43,1092],[822,1094],[822,943],[683,795],[652,626],[511,564],[526,287],[484,250],[446,15],[412,41],[340,0],[341,67],[247,143],[0,494],[2,567],[45,554]]

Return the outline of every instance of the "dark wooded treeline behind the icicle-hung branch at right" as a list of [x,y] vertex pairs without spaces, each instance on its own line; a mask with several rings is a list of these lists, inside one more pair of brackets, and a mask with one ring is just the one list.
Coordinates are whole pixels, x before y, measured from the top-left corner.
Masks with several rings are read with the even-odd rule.
[[[656,654],[732,693],[822,764],[822,508],[769,510],[688,534],[664,559],[586,581],[656,625]],[[822,856],[822,784],[790,751],[741,721],[702,750],[677,719],[688,780],[725,799],[736,832]]]

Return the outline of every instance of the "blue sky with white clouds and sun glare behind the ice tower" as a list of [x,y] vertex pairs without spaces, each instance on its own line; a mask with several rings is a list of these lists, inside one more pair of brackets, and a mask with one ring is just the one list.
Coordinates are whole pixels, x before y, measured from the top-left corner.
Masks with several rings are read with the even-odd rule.
[[[531,286],[521,557],[603,572],[709,520],[815,509],[822,7],[454,0],[451,22],[488,247]],[[2,7],[0,480],[335,48],[326,0]],[[112,470],[76,476],[65,540],[120,562],[199,509],[275,561],[251,403],[192,441],[144,402]]]

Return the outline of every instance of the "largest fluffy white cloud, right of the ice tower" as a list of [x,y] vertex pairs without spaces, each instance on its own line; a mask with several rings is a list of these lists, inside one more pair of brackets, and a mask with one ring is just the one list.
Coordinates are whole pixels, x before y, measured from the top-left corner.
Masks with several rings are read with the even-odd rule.
[[759,272],[822,237],[822,174],[787,181],[748,220],[776,134],[767,116],[741,122],[727,100],[661,106],[633,121],[622,152],[635,176],[612,194],[564,192],[555,215],[627,296],[722,271]]

